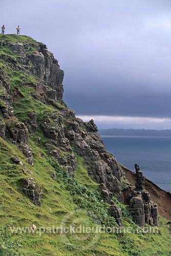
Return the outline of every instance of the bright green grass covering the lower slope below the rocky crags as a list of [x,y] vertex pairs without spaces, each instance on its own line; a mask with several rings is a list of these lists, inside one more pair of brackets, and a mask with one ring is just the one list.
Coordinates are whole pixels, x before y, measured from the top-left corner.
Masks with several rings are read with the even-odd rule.
[[[65,169],[61,169],[56,160],[50,161],[45,148],[36,144],[34,139],[31,142],[34,167],[27,163],[26,157],[18,151],[17,146],[10,143],[10,141],[4,141],[3,139],[0,139],[0,141],[2,226],[5,226],[11,220],[13,226],[31,227],[34,223],[39,230],[40,227],[47,228],[53,225],[59,227],[63,220],[66,221],[66,218],[67,225],[73,222],[77,225],[99,225],[94,221],[95,213],[91,216],[89,211],[92,211],[93,208],[96,209],[97,206],[97,208],[105,211],[107,205],[101,203],[98,196],[98,185],[89,177],[86,177],[86,164],[82,158],[79,159],[77,156],[76,177],[80,178],[79,182],[67,178]],[[15,165],[12,162],[11,158],[16,155],[33,175],[23,172],[22,166]],[[40,157],[40,155],[43,157]],[[51,177],[53,171],[57,174],[56,181]],[[82,175],[85,175],[84,178]],[[23,192],[23,180],[27,177],[33,177],[36,184],[44,191],[41,207],[35,205],[32,207],[30,205],[33,205],[32,201]],[[95,189],[97,194],[92,189]],[[88,195],[89,197],[87,197]],[[80,200],[81,198],[82,200]],[[123,210],[124,227],[132,227],[135,230],[136,225],[132,223],[126,206],[117,202],[117,200],[115,201]],[[66,217],[68,213],[70,215]],[[80,253],[92,255],[93,252],[97,255],[160,255],[162,253],[163,255],[169,255],[171,239],[168,235],[167,221],[164,218],[160,218],[160,220],[159,234],[124,234],[122,232],[120,234],[101,233],[99,236],[94,236],[92,233],[89,234],[87,239],[84,239],[82,234],[78,234],[78,237],[75,238],[71,234],[66,237],[60,233],[45,232],[39,236],[39,233],[20,233],[18,231],[17,234],[11,237],[11,240],[18,239],[18,236],[21,236],[19,241],[23,241],[22,247],[11,248],[11,251],[24,255],[60,255],[60,253],[62,255],[80,255]],[[95,239],[95,244],[91,246],[92,239]],[[35,249],[33,249],[33,243]]]

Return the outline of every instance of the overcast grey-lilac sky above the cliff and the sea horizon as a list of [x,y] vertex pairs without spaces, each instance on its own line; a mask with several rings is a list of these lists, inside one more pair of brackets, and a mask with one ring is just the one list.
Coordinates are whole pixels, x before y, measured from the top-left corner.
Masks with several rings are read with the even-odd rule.
[[[99,129],[171,129],[170,0],[5,0],[1,24],[44,42],[68,107]],[[1,26],[2,27],[2,26]]]

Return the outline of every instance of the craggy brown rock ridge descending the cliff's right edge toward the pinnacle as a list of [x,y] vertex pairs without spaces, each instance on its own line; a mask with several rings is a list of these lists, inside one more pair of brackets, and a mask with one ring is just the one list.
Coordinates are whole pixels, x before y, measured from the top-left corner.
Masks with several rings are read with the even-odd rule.
[[66,124],[66,137],[76,153],[86,160],[90,177],[99,184],[104,184],[103,197],[110,202],[109,193],[111,193],[122,202],[120,178],[124,176],[124,173],[117,164],[115,157],[106,151],[94,121],[90,120],[84,123],[75,117],[75,113],[72,113],[70,118],[66,120]]

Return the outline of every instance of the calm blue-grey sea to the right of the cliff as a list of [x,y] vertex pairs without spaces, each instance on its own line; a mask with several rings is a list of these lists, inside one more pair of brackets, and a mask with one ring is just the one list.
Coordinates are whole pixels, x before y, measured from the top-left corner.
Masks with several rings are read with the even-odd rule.
[[138,163],[147,179],[171,192],[171,137],[101,137],[117,162],[134,171]]

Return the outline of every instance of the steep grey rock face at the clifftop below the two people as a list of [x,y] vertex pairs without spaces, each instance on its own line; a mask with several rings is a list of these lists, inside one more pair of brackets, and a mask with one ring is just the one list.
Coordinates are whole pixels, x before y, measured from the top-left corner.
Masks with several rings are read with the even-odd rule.
[[[36,42],[35,44],[29,42],[16,42],[15,44],[0,42],[0,44],[4,48],[10,48],[16,56],[18,55],[16,58],[3,56],[3,58],[6,58],[5,60],[10,58],[11,67],[14,70],[20,70],[44,81],[47,85],[45,91],[48,97],[66,105],[62,98],[64,72],[60,69],[58,61],[54,58],[53,53],[48,51],[45,44],[37,44]],[[35,51],[28,53],[33,47]]]

